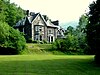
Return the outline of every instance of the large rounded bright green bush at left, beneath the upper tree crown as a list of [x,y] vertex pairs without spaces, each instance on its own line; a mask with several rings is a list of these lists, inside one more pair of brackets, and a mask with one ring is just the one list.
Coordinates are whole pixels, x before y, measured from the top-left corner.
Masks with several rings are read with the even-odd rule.
[[25,38],[18,30],[13,29],[5,22],[0,22],[0,46],[12,48],[16,53],[25,49]]

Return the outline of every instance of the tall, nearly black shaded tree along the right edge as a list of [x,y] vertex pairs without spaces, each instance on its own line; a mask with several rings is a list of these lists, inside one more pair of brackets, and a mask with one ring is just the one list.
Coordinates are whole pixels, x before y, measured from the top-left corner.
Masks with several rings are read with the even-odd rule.
[[100,64],[100,0],[89,6],[89,24],[87,25],[87,41],[95,53],[95,62]]

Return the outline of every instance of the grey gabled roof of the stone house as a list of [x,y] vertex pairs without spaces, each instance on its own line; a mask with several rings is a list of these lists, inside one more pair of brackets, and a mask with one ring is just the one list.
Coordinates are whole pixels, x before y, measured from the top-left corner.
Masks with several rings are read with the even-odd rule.
[[26,16],[24,17],[22,20],[20,20],[19,22],[16,23],[15,27],[20,27],[20,26],[24,26],[27,23],[32,24],[32,22],[34,22],[35,18],[40,16],[41,19],[43,20],[43,22],[45,23],[45,25],[47,27],[56,27],[58,28],[57,25],[54,25],[49,19],[45,20],[44,16],[42,16],[40,13],[34,13],[30,16]]

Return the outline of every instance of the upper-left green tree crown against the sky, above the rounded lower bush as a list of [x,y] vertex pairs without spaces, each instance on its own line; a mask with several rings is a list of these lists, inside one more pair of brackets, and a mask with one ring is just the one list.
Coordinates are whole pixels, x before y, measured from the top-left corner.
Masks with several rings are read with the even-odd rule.
[[14,26],[17,21],[25,16],[25,11],[17,7],[16,4],[10,3],[9,0],[0,0],[0,21]]

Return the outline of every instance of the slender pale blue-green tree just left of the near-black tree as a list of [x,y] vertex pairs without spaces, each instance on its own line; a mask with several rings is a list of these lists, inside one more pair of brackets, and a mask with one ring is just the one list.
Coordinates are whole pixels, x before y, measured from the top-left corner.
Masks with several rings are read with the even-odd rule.
[[91,54],[89,46],[86,41],[86,25],[88,24],[88,15],[83,14],[79,19],[79,25],[76,27],[76,36],[80,50],[85,54]]

